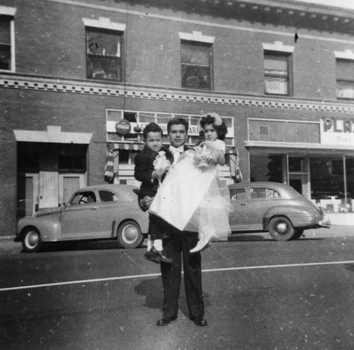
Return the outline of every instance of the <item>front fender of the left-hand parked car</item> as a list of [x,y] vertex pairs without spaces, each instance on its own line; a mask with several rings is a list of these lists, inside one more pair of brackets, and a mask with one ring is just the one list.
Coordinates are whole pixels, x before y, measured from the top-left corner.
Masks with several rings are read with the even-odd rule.
[[28,216],[21,219],[17,225],[18,237],[21,237],[21,233],[26,227],[35,227],[40,232],[40,237],[43,242],[59,239],[62,232],[59,219],[53,216],[43,218]]

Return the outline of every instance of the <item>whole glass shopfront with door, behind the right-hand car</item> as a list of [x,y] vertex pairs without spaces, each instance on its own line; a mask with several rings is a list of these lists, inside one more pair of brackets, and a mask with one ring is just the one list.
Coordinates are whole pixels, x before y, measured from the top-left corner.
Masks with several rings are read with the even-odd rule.
[[[319,205],[325,213],[354,211],[354,157],[284,157],[251,154],[250,171],[251,181],[290,184],[299,193]],[[307,187],[311,188],[311,193],[306,191]]]

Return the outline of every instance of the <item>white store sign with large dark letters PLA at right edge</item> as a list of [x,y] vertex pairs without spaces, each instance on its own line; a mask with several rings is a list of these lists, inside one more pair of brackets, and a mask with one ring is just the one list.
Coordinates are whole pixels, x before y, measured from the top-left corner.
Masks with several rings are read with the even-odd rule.
[[354,146],[354,120],[321,118],[321,144]]

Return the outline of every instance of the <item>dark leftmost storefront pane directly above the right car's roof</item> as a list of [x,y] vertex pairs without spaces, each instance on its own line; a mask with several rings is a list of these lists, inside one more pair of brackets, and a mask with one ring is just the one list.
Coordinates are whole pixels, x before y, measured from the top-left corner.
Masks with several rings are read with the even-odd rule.
[[251,181],[282,182],[282,157],[250,155]]

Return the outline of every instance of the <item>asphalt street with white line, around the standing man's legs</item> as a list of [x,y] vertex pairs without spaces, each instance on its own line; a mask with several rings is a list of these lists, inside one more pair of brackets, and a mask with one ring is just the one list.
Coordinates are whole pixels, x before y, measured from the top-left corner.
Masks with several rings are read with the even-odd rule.
[[352,350],[354,237],[313,231],[290,242],[234,235],[203,252],[207,327],[189,320],[183,289],[178,319],[156,327],[161,277],[144,247],[18,254],[21,245],[9,242],[0,256],[0,349]]

